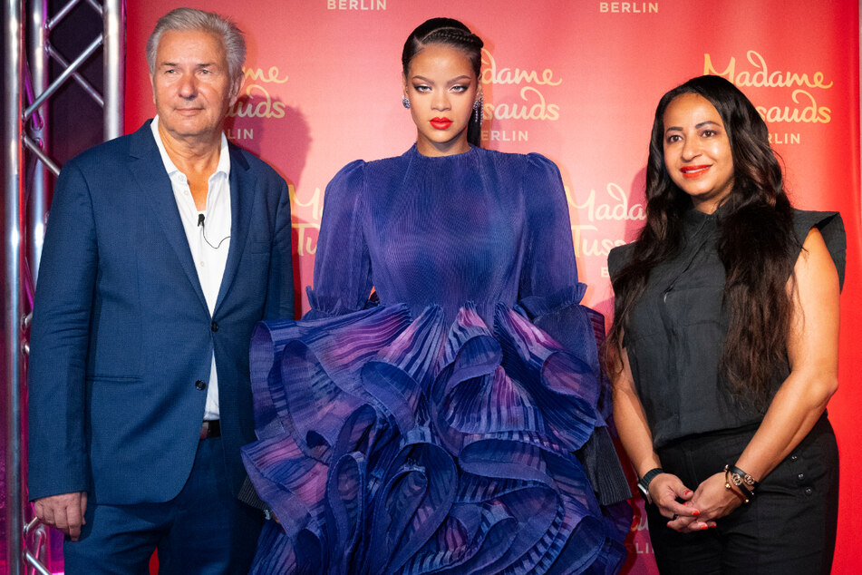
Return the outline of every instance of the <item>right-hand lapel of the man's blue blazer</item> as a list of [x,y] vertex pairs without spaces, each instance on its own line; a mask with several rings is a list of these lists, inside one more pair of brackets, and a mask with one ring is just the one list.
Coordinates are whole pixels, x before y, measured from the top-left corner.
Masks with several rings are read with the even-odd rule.
[[215,307],[217,312],[237,277],[239,260],[246,247],[251,214],[257,198],[257,176],[250,170],[242,151],[231,143],[228,143],[228,150],[230,150],[230,248],[225,273],[221,277],[221,286],[218,287]]

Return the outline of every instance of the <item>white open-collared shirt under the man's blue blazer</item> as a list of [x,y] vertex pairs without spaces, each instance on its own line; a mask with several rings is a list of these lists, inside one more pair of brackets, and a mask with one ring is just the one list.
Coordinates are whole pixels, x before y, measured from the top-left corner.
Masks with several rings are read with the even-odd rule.
[[[216,309],[216,298],[218,288],[221,287],[221,278],[225,274],[225,264],[228,261],[228,249],[230,248],[230,154],[228,153],[228,139],[221,134],[221,151],[218,155],[218,167],[209,176],[207,191],[207,206],[203,211],[195,206],[195,200],[191,197],[189,180],[186,178],[173,161],[170,161],[165,145],[159,135],[159,116],[153,118],[150,123],[152,135],[159,147],[161,161],[168,171],[170,186],[177,200],[179,219],[182,220],[186,239],[189,240],[191,257],[195,261],[195,269],[198,270],[200,287],[207,298],[209,316],[212,317]],[[209,383],[207,387],[207,405],[204,409],[203,419],[218,419],[218,374],[216,372],[216,355],[213,352],[212,366],[209,371]]]

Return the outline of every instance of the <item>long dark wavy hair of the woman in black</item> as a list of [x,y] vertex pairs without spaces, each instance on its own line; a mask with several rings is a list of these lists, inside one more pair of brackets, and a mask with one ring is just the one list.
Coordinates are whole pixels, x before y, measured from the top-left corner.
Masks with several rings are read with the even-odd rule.
[[622,336],[650,271],[679,253],[689,196],[664,165],[664,112],[673,99],[694,93],[712,103],[724,123],[733,158],[733,185],[722,202],[718,252],[725,271],[723,305],[729,315],[720,375],[740,401],[760,410],[770,402],[775,369],[786,361],[795,258],[793,215],[769,131],[748,98],[720,76],[693,78],[665,93],[655,109],[646,166],[646,224],[632,257],[615,278],[615,320],[608,367],[621,367]]

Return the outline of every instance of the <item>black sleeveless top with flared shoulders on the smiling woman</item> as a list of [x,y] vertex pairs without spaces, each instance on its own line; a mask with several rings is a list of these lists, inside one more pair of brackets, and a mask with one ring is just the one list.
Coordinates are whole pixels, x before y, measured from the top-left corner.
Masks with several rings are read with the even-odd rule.
[[[637,395],[644,405],[655,448],[693,434],[758,424],[763,413],[731,398],[718,365],[727,336],[722,306],[724,266],[716,249],[721,210],[689,210],[683,218],[683,248],[650,273],[643,296],[634,304],[623,345]],[[811,228],[818,228],[843,285],[847,239],[838,212],[794,210],[794,231],[802,249]],[[634,243],[611,250],[612,279],[631,257]],[[773,394],[789,375],[776,373]]]

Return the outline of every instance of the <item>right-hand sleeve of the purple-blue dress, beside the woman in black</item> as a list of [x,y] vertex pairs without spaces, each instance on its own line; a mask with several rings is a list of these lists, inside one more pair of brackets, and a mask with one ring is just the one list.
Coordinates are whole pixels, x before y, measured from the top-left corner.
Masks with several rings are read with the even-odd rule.
[[[540,154],[529,154],[523,192],[527,242],[518,305],[533,324],[593,369],[600,387],[597,407],[610,421],[609,389],[598,359],[605,317],[580,305],[586,286],[577,281],[566,190],[557,165]],[[599,502],[608,505],[631,497],[606,425],[596,426],[576,455]]]

